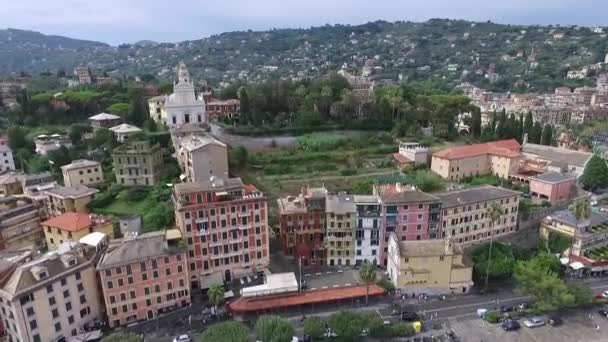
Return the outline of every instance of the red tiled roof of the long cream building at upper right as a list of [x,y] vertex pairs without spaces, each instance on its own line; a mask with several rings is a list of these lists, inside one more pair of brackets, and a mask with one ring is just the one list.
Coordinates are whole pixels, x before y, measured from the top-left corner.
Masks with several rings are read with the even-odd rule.
[[521,145],[515,139],[493,141],[485,144],[456,146],[446,148],[433,154],[443,159],[463,159],[492,154],[507,158],[519,157]]

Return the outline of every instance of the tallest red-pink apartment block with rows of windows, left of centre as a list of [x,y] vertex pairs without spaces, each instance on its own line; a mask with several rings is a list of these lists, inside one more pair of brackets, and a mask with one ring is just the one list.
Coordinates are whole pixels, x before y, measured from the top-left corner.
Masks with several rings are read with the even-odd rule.
[[253,185],[217,177],[179,183],[174,201],[192,288],[206,289],[268,267],[266,198]]

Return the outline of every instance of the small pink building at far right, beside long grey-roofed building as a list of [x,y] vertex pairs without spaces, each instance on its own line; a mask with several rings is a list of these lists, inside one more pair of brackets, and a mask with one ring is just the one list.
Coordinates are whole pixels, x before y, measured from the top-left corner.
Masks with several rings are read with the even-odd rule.
[[551,203],[568,200],[576,191],[576,177],[548,172],[530,178],[530,194]]

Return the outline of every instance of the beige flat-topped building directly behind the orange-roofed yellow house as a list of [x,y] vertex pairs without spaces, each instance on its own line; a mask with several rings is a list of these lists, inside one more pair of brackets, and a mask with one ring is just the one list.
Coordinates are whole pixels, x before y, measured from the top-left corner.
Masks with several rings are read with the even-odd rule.
[[64,213],[88,213],[87,204],[95,198],[99,190],[84,185],[57,186],[46,190],[49,196],[47,214],[59,216]]

